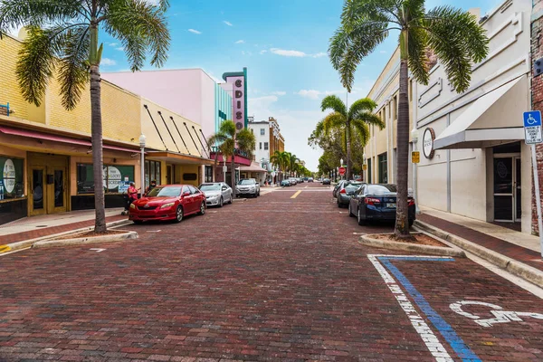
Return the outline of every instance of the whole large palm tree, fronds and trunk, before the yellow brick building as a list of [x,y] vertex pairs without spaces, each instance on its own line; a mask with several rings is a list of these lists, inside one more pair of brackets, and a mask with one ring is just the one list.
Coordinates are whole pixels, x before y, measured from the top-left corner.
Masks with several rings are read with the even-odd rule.
[[[90,121],[94,176],[95,233],[105,233],[102,124],[100,108],[101,29],[119,39],[132,71],[144,65],[148,52],[151,65],[167,60],[170,36],[167,30],[167,0],[151,5],[143,0],[3,0],[0,35],[24,25],[24,40],[16,73],[25,100],[39,106],[49,79],[57,71],[62,105],[73,110],[90,81]],[[142,166],[143,167],[143,166]],[[143,187],[143,186],[142,186]]]

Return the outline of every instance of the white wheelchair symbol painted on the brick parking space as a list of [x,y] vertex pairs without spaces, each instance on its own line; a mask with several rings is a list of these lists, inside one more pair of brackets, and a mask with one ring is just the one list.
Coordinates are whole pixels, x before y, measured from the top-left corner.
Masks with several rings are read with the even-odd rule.
[[[480,305],[480,306],[489,307],[491,308],[491,314],[495,318],[481,319],[480,316],[477,316],[475,314],[462,310],[462,306],[466,306],[466,305]],[[499,305],[485,303],[483,301],[477,301],[477,300],[460,300],[460,301],[457,301],[456,303],[452,303],[449,307],[451,308],[451,310],[455,311],[461,316],[467,317],[469,319],[476,319],[474,320],[475,323],[479,324],[482,327],[492,327],[492,325],[494,324],[509,323],[512,321],[522,322],[524,320],[521,317],[543,319],[543,314],[531,313],[531,312],[526,312],[526,311],[503,310],[503,308],[501,308]]]

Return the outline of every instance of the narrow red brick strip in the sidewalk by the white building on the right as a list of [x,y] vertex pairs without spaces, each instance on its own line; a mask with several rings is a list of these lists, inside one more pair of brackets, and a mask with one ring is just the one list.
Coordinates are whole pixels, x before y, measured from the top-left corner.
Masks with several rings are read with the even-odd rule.
[[469,227],[454,224],[429,214],[417,215],[417,219],[442,229],[447,233],[452,233],[462,239],[477,243],[494,252],[500,252],[500,254],[510,257],[511,259],[524,262],[531,267],[543,271],[543,262],[541,262],[541,254],[539,252],[534,252],[531,249],[523,248],[514,243],[506,242],[505,240],[501,240],[489,234],[481,233],[470,229]]

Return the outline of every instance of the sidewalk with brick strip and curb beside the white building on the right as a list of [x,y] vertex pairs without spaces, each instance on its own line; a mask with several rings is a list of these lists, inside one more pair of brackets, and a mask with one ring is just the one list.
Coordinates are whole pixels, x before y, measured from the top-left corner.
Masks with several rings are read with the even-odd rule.
[[[543,260],[537,236],[430,208],[422,208],[421,211],[422,214],[417,215],[416,226],[437,236],[446,236],[446,240],[452,243],[462,243],[459,246],[464,249],[467,245],[471,249],[468,252],[501,268],[509,267],[514,261],[514,268],[520,268],[520,271],[513,273],[541,286]],[[535,279],[527,278],[527,272],[534,274]]]

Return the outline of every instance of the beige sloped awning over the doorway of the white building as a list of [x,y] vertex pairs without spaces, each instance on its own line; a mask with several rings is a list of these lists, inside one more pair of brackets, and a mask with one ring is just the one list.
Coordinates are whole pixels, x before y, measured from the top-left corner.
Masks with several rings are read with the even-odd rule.
[[524,139],[522,112],[528,108],[528,80],[522,75],[475,100],[435,138],[433,148],[489,148]]

